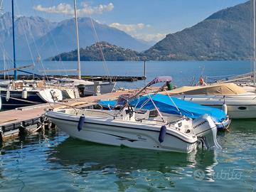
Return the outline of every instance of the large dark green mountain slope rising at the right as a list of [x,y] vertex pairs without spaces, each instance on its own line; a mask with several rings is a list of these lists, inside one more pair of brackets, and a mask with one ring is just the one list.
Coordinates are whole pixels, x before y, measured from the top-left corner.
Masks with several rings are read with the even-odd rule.
[[171,33],[146,50],[151,60],[246,60],[251,55],[250,1]]

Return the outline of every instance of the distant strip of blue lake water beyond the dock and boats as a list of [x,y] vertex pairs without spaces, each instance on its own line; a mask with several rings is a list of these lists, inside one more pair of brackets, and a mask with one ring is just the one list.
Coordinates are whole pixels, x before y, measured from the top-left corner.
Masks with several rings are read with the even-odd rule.
[[[29,61],[18,62],[18,66],[28,65]],[[0,63],[0,69],[3,64]],[[28,69],[30,72],[43,75],[44,70],[63,70],[61,73],[47,72],[47,75],[75,75],[74,72],[69,72],[70,69],[75,69],[77,63],[75,61],[55,62],[43,61],[36,63],[35,68]],[[11,68],[11,66],[9,66]],[[27,69],[26,69],[27,70]],[[146,81],[138,82],[118,82],[117,87],[142,87],[146,82],[149,82],[156,76],[171,75],[174,79],[174,84],[189,85],[193,77],[196,81],[200,76],[222,76],[222,75],[238,75],[248,73],[252,70],[249,61],[148,61],[146,62]],[[144,62],[129,62],[117,61],[106,63],[103,62],[81,62],[82,75],[111,75],[111,76],[143,76]]]

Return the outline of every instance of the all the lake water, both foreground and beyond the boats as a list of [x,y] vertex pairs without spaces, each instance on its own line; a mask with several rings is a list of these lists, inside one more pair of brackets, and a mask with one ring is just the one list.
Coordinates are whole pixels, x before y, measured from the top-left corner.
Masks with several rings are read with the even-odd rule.
[[[46,69],[75,65],[44,62]],[[110,75],[140,76],[144,63],[107,62],[107,67]],[[171,75],[180,86],[201,75],[250,70],[247,61],[151,61],[147,80],[117,86],[142,87],[157,75]],[[82,74],[106,70],[102,62],[82,62]],[[82,142],[58,130],[28,135],[1,144],[0,191],[256,191],[256,120],[233,120],[230,132],[218,133],[218,142],[223,149],[178,154]]]

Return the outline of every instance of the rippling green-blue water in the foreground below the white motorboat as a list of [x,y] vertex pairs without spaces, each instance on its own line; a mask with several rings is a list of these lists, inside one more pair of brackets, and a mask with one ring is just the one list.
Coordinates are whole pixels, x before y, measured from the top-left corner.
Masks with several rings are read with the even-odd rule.
[[[16,139],[1,147],[0,189],[252,191],[256,183],[256,131],[242,128],[243,124],[235,122],[231,132],[218,134],[223,149],[191,154],[92,144],[61,132]],[[199,175],[202,179],[195,177],[198,170],[203,171]],[[241,173],[241,178],[232,177],[233,170]]]

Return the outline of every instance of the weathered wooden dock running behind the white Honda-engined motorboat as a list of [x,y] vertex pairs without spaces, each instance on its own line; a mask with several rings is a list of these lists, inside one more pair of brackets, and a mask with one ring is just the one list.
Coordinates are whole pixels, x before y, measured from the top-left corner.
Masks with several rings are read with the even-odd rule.
[[[154,91],[159,87],[151,87]],[[38,131],[39,129],[53,128],[50,122],[45,123],[44,115],[47,109],[66,107],[89,107],[97,104],[99,100],[114,100],[123,94],[135,94],[139,90],[116,90],[104,95],[80,97],[74,100],[64,100],[56,103],[43,103],[28,107],[19,107],[15,110],[0,112],[0,141],[6,141],[26,134]]]

